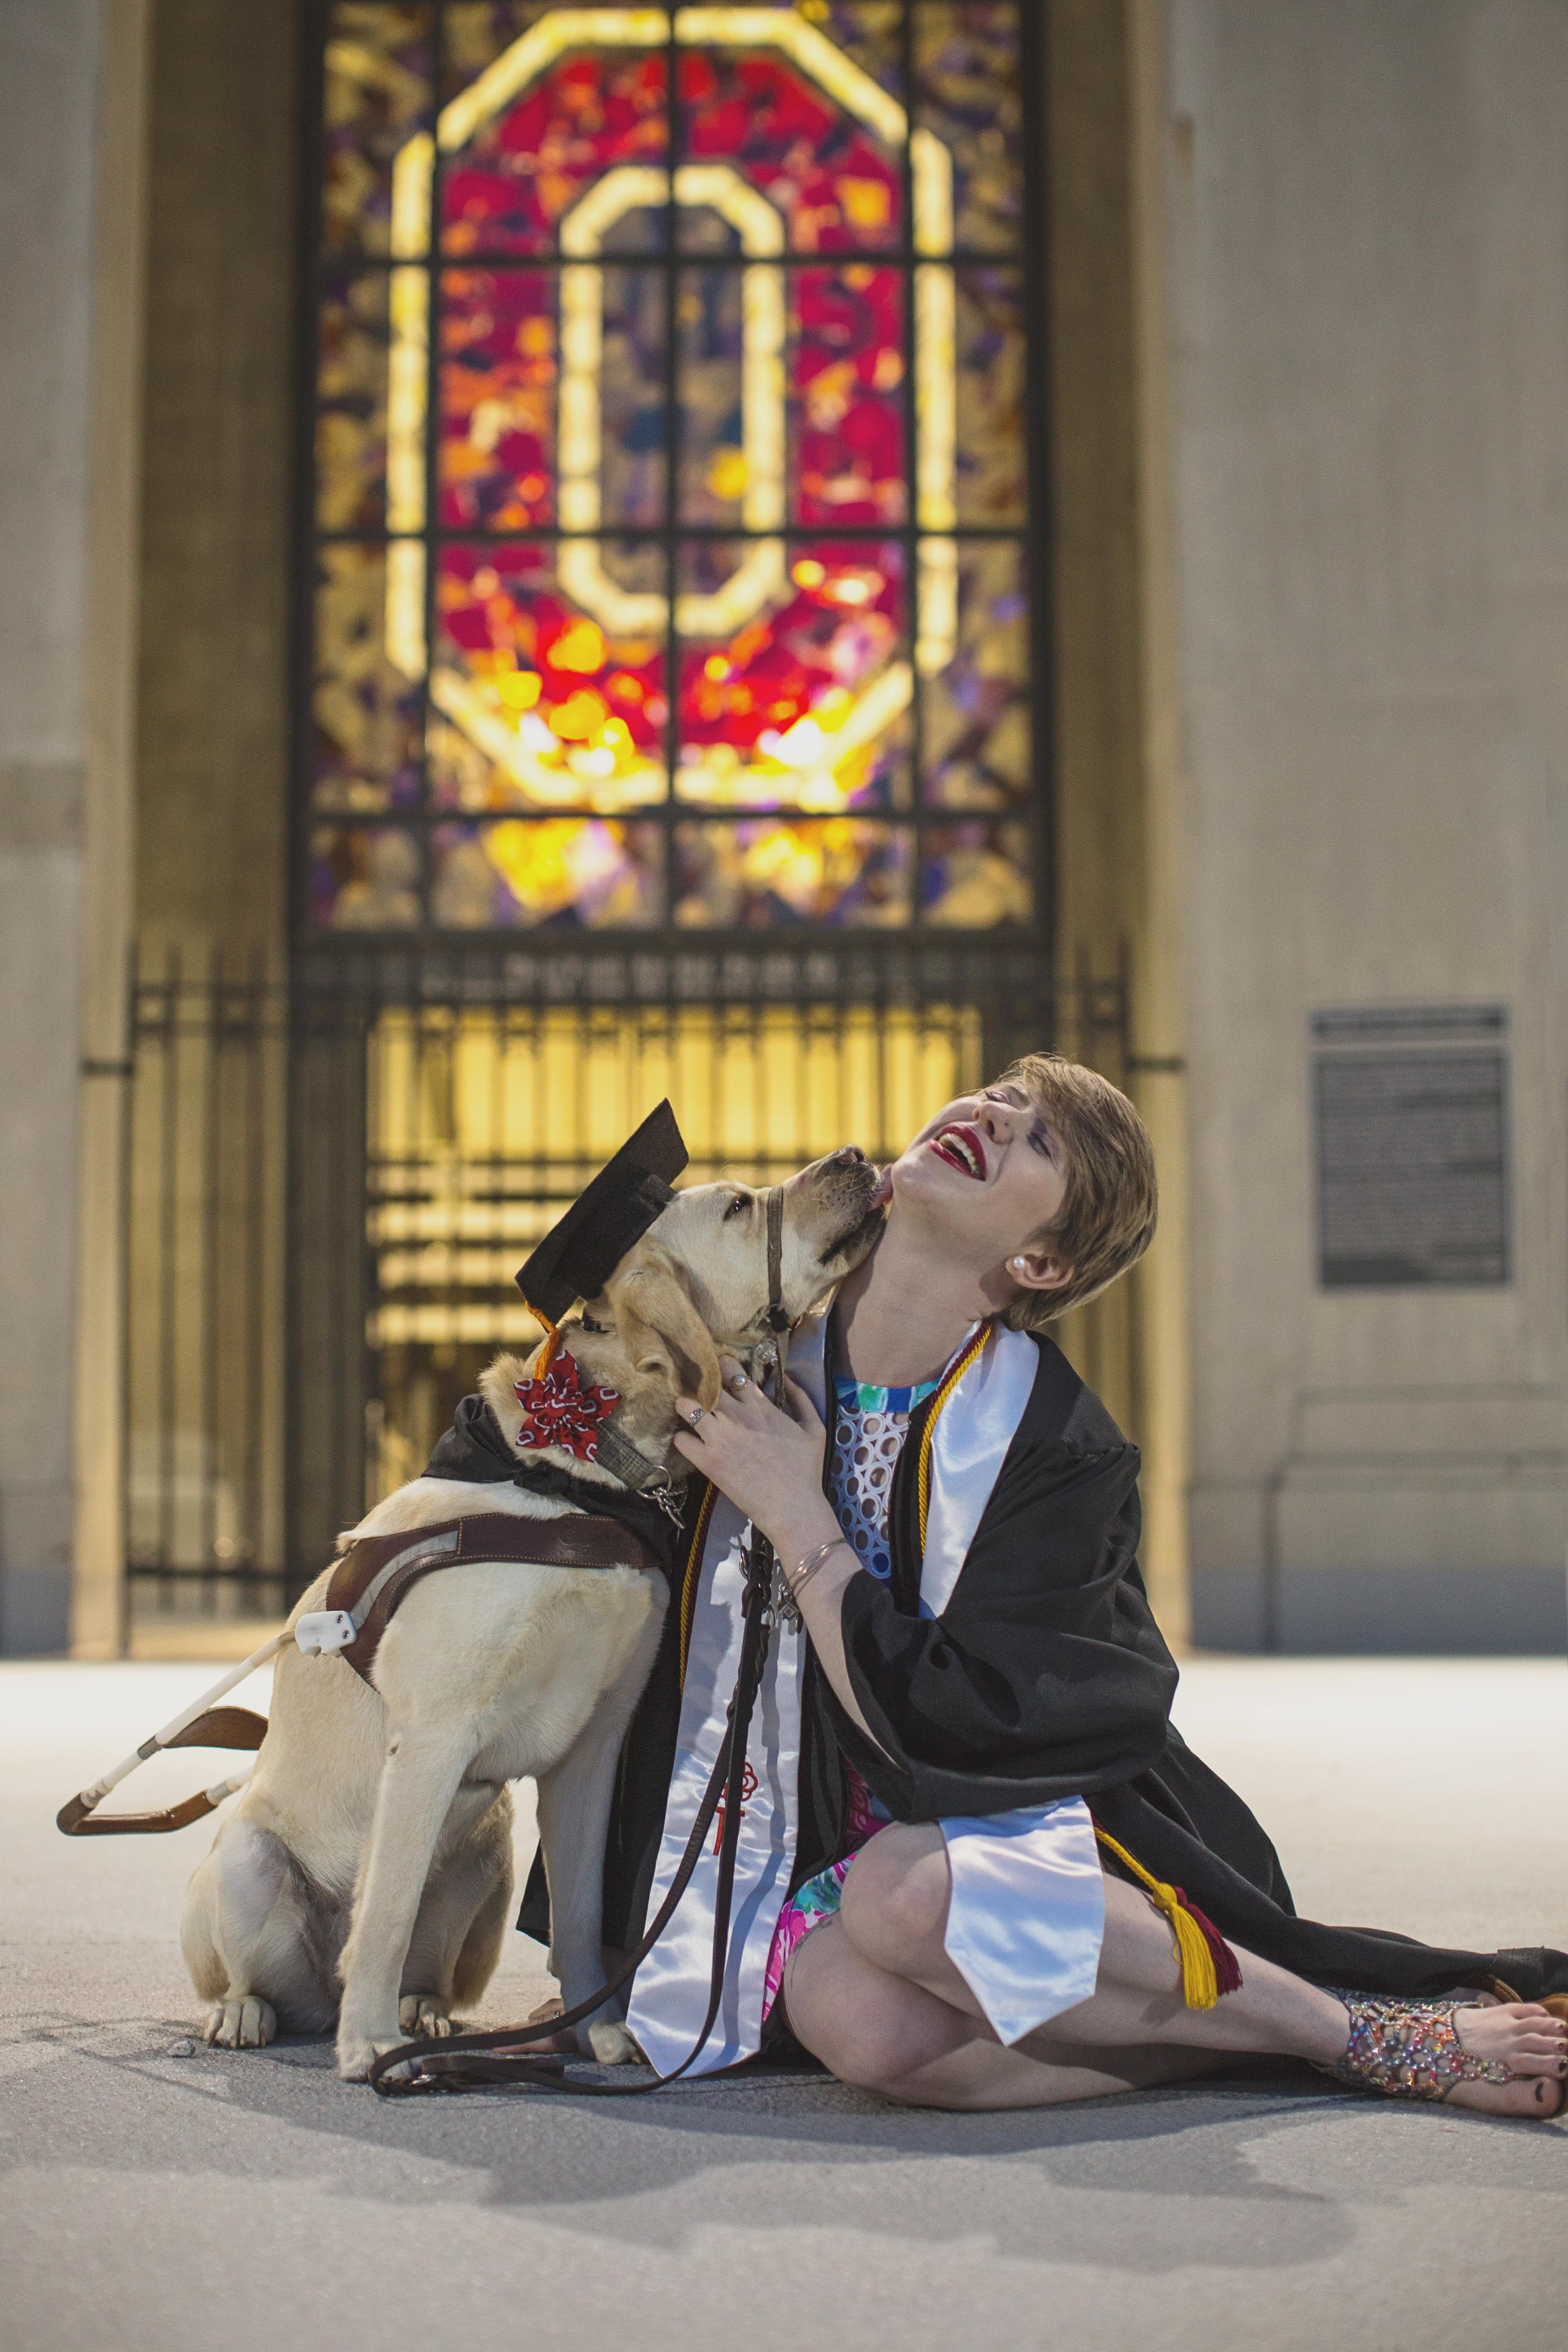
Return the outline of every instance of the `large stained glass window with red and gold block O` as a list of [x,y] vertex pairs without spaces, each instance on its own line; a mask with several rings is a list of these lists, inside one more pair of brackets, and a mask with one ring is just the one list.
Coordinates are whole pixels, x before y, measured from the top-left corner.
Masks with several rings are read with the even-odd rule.
[[308,927],[1032,924],[1030,16],[320,9]]

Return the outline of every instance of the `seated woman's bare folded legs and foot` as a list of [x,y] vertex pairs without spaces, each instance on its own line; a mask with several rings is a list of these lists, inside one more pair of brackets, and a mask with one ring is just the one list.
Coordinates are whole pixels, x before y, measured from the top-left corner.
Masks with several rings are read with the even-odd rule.
[[[1319,2063],[1345,2053],[1345,2006],[1255,1952],[1237,1952],[1237,1992],[1215,2009],[1187,2009],[1168,1924],[1133,1886],[1112,1877],[1105,1879],[1105,1945],[1093,1997],[1004,2051],[943,1947],[950,1891],[938,1828],[884,1830],[844,1882],[839,1938],[827,1945],[827,1929],[818,1929],[797,1947],[785,1992],[790,2020],[846,2079],[872,2084],[875,2074],[872,2086],[917,2103],[1016,2107],[1131,2089],[1133,2079],[1171,2082],[1213,2067],[1227,2051]],[[816,1959],[809,1957],[813,1945],[823,1945]],[[926,1994],[966,2020],[966,2030],[891,1987]],[[1568,2027],[1547,2011],[1512,2004],[1462,2009],[1460,2034],[1476,2056],[1502,2058],[1537,2079],[1458,2084],[1450,2105],[1556,2112],[1568,2074]],[[1145,2058],[1133,2060],[1135,2051]],[[1187,2063],[1178,2065],[1182,2053]],[[1161,2072],[1150,2074],[1154,2056]]]

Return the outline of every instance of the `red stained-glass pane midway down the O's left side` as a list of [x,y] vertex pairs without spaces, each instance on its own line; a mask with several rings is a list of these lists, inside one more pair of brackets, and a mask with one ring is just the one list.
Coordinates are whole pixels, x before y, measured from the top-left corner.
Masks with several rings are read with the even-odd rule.
[[520,532],[555,517],[555,278],[442,278],[440,515]]

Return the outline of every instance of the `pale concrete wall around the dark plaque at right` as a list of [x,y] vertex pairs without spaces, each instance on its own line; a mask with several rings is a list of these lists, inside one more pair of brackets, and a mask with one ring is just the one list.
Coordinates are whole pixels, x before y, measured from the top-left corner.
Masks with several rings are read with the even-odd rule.
[[[1568,7],[1173,0],[1199,1642],[1563,1644]],[[1307,1016],[1500,1002],[1514,1272],[1324,1291]]]

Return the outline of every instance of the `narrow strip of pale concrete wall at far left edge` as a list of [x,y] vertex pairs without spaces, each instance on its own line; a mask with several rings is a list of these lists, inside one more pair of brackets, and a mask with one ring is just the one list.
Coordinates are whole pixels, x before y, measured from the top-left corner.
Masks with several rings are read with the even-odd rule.
[[0,9],[0,1651],[63,1649],[96,0]]

